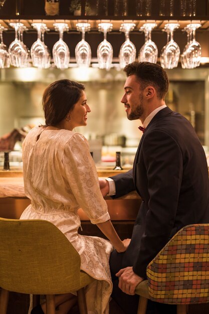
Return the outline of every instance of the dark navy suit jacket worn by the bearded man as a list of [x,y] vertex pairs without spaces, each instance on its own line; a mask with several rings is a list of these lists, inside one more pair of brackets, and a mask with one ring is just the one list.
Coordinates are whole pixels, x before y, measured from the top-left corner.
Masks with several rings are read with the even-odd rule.
[[142,203],[121,267],[133,266],[146,278],[146,266],[183,226],[209,222],[209,183],[205,153],[190,122],[168,107],[148,124],[133,171],[112,177],[115,197],[132,190]]

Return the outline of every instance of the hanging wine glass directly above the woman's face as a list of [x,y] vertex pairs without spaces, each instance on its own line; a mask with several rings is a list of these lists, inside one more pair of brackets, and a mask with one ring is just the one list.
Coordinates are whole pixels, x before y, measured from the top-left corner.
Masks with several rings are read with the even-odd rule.
[[89,23],[76,24],[77,30],[82,32],[82,40],[76,45],[75,56],[78,67],[89,67],[91,63],[91,47],[85,41],[85,32],[90,30]]

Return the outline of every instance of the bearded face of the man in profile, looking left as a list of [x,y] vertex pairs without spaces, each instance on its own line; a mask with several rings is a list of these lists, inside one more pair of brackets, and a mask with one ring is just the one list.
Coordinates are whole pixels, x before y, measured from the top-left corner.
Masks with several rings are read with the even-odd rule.
[[135,75],[127,77],[124,85],[125,93],[121,99],[126,108],[127,118],[129,120],[140,119],[144,113],[143,91],[140,89],[140,83]]

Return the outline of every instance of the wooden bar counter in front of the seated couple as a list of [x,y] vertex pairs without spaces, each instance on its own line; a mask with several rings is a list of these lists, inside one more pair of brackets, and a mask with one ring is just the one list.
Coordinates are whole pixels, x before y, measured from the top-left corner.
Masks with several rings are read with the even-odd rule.
[[[99,177],[107,178],[126,171],[98,168],[97,173]],[[112,200],[110,197],[106,197],[105,200],[112,221],[134,222],[141,203],[141,199],[135,191],[116,200]],[[0,171],[0,217],[19,219],[29,204],[30,200],[24,192],[22,170]],[[89,222],[89,218],[82,209],[79,209],[79,216],[81,221]]]

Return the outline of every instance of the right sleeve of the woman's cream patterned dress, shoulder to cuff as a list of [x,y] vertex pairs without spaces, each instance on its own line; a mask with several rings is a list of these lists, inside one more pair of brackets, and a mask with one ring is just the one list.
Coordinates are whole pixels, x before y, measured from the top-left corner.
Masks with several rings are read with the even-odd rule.
[[83,135],[75,133],[66,143],[62,162],[69,187],[91,223],[109,220],[107,204],[99,188],[96,167]]

